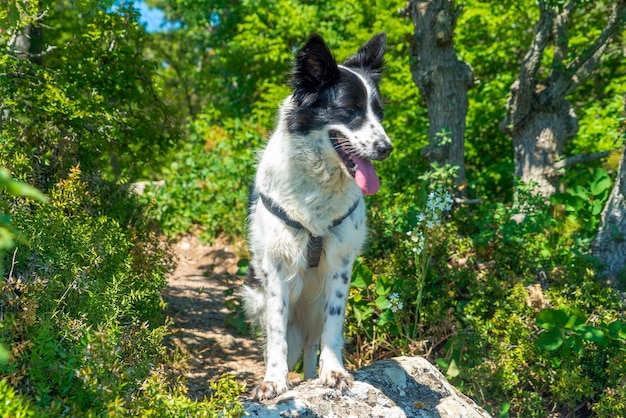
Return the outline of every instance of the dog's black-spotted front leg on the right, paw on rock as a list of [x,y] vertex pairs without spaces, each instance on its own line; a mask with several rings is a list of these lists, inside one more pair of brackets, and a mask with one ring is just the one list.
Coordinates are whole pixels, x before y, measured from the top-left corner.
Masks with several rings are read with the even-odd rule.
[[[343,367],[343,320],[350,289],[350,276],[354,256],[338,260],[329,257],[329,272],[325,283],[326,306],[322,330],[319,378],[325,385],[345,389],[352,385],[353,377]],[[333,273],[334,272],[334,273]]]

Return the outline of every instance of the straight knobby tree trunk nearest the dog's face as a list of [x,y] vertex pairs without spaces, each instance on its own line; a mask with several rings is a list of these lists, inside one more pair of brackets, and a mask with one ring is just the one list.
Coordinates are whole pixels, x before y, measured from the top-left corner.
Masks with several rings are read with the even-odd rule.
[[411,72],[428,109],[428,161],[457,167],[457,195],[465,196],[465,118],[467,90],[474,73],[457,58],[453,45],[460,7],[453,0],[409,0],[406,9],[413,22]]

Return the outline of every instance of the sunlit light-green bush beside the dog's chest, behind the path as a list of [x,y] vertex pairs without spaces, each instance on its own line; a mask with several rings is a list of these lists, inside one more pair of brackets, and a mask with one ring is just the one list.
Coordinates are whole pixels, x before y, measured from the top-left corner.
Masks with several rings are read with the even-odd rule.
[[213,124],[208,116],[192,123],[190,132],[163,170],[165,186],[146,190],[145,199],[154,203],[151,216],[169,236],[200,227],[207,241],[221,233],[241,237],[255,156],[267,132],[252,120]]

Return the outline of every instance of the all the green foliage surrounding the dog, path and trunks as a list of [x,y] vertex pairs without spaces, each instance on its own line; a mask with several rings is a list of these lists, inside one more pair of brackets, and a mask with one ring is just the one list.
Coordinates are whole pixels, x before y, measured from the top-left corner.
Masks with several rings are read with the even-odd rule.
[[[9,354],[0,350],[0,415],[239,413],[241,388],[228,379],[208,403],[184,396],[184,361],[162,344],[172,265],[159,235],[242,238],[256,150],[288,94],[294,51],[318,32],[341,60],[380,31],[395,150],[377,163],[383,187],[367,198],[348,362],[426,355],[494,416],[626,415],[625,295],[596,278],[589,256],[624,141],[623,31],[568,97],[580,129],[564,157],[615,152],[566,169],[546,202],[515,183],[500,127],[536,2],[463,3],[454,42],[476,80],[465,160],[478,203],[452,205],[450,168],[422,155],[428,118],[404,1],[147,3],[168,28],[147,33],[129,2],[0,6],[0,345]],[[579,3],[572,54],[598,35],[611,2]],[[165,186],[137,198],[128,183],[144,179]],[[237,302],[229,306],[247,332]]]

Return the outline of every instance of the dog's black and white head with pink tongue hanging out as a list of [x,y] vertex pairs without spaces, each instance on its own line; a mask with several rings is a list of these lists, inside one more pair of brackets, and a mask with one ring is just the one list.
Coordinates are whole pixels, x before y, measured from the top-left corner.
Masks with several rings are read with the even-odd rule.
[[324,40],[312,35],[296,54],[292,79],[289,131],[299,136],[323,132],[328,141],[323,145],[334,149],[335,158],[365,194],[376,193],[380,186],[370,160],[384,160],[392,151],[381,124],[378,89],[385,40],[385,33],[375,35],[337,65]]

